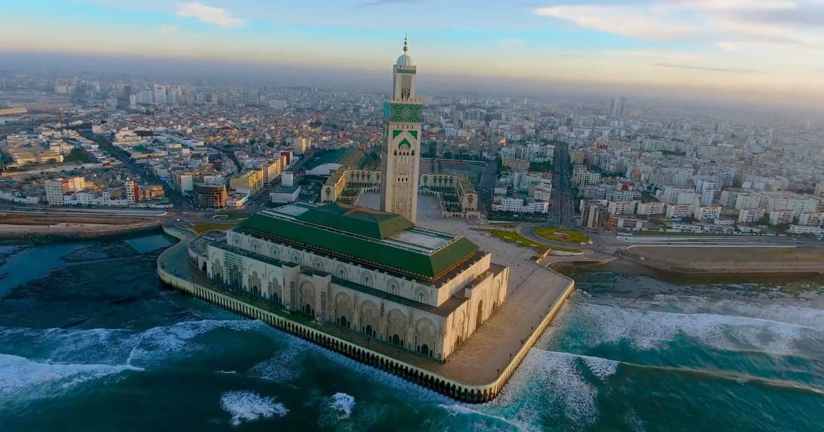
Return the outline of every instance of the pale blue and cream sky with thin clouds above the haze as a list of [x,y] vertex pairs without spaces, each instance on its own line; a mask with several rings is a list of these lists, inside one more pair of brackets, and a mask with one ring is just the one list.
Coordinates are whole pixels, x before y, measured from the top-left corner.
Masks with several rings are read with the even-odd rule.
[[[824,102],[824,0],[26,0],[5,53]],[[0,67],[2,67],[0,58]]]

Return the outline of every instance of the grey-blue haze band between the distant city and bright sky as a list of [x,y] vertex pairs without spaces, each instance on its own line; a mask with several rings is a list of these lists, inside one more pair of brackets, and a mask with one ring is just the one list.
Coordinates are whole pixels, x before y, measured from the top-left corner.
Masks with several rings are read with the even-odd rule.
[[[255,82],[272,86],[326,86],[353,91],[382,93],[391,86],[391,61],[382,69],[322,68],[295,64],[223,62],[189,58],[147,58],[138,55],[91,55],[75,53],[3,52],[7,63],[0,72],[49,72],[56,76],[120,75],[124,78],[190,80],[203,78],[222,82]],[[612,97],[625,96],[637,106],[678,100],[686,105],[712,105],[720,109],[770,111],[775,105],[787,109],[818,109],[804,98],[798,103],[770,99],[770,95],[744,95],[723,89],[672,88],[668,86],[617,85],[583,81],[550,81],[515,77],[475,77],[428,73],[419,66],[422,95],[475,95],[530,98],[543,102],[605,105]],[[334,73],[330,73],[334,72]],[[770,105],[766,105],[769,103]]]

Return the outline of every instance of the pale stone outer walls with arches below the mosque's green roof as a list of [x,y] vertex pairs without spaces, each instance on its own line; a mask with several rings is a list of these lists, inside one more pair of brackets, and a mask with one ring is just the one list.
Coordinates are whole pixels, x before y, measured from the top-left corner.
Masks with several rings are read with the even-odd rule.
[[508,267],[489,253],[438,286],[245,233],[208,244],[199,267],[209,278],[258,295],[319,323],[445,360],[507,296]]

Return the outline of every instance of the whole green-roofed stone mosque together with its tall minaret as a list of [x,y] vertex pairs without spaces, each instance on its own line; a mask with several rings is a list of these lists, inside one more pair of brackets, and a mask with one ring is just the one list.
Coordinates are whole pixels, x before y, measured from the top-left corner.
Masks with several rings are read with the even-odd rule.
[[507,299],[509,268],[463,236],[414,225],[422,108],[406,41],[403,50],[383,107],[380,211],[261,211],[193,258],[230,290],[443,361]]

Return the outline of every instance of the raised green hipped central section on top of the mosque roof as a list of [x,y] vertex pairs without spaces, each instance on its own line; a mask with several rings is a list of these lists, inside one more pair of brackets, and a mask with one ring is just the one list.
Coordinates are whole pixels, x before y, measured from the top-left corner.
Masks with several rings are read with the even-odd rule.
[[400,215],[339,202],[311,208],[297,216],[297,220],[372,239],[386,239],[413,226],[411,221]]

